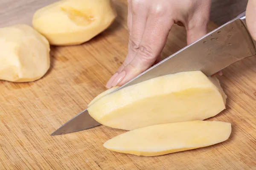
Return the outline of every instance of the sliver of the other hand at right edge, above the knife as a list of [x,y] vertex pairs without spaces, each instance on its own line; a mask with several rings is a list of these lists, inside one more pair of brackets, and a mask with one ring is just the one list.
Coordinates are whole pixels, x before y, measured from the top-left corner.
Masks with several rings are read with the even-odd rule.
[[256,0],[249,0],[246,8],[247,28],[256,41]]

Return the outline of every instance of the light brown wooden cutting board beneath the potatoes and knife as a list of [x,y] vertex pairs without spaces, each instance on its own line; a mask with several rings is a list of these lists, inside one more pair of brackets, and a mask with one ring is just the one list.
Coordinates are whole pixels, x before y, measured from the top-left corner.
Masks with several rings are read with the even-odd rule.
[[[30,23],[33,11],[52,0],[18,2],[1,1],[0,26]],[[118,18],[108,30],[83,45],[51,48],[51,68],[42,79],[31,83],[0,81],[0,169],[256,170],[255,57],[229,66],[219,77],[228,96],[227,109],[209,120],[232,124],[226,142],[165,156],[140,157],[102,146],[124,130],[99,126],[50,136],[106,90],[106,82],[125,59],[127,1],[116,0],[115,4]],[[216,27],[209,23],[208,31]],[[175,25],[162,58],[185,45],[186,31]]]

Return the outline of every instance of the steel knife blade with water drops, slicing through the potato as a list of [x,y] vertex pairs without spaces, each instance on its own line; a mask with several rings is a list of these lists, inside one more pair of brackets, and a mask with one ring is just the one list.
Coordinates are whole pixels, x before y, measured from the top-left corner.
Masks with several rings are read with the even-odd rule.
[[[247,30],[245,12],[163,59],[115,91],[148,79],[183,71],[200,70],[207,76],[212,76],[241,59],[254,56],[256,42]],[[93,119],[86,109],[51,135],[73,133],[99,125],[101,124]]]

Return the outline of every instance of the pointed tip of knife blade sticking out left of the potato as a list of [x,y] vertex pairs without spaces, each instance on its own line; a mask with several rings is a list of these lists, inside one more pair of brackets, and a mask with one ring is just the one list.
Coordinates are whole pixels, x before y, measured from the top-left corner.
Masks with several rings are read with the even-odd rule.
[[87,109],[70,119],[67,123],[55,130],[51,136],[61,135],[66,133],[78,132],[85,129],[90,129],[101,125],[95,119],[93,119],[88,113]]

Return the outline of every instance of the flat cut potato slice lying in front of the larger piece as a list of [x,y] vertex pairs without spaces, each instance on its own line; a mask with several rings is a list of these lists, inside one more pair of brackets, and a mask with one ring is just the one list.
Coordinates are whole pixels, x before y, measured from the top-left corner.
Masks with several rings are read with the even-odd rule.
[[103,146],[119,153],[160,156],[224,142],[230,133],[230,123],[195,120],[131,130],[108,140]]

